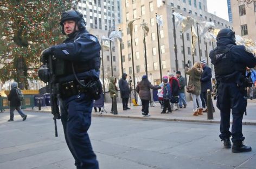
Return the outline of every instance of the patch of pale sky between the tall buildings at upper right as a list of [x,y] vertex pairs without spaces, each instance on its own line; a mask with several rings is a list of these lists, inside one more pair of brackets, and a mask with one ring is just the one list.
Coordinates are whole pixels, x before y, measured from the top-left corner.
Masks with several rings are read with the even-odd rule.
[[227,0],[207,0],[208,12],[226,19],[228,21],[228,5]]

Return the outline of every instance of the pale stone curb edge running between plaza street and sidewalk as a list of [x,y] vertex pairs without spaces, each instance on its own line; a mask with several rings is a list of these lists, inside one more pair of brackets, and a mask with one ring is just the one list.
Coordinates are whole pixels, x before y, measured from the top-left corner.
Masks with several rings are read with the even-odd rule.
[[[52,113],[50,111],[36,111],[36,110],[32,110],[32,109],[25,109],[25,111],[28,112],[40,112],[40,113]],[[163,121],[181,121],[181,122],[203,122],[203,123],[209,123],[209,124],[220,124],[220,121],[217,120],[194,120],[194,119],[178,119],[178,118],[154,118],[152,116],[150,117],[143,117],[143,116],[130,116],[130,115],[113,115],[113,114],[95,114],[92,113],[93,117],[107,117],[107,118],[123,118],[123,119],[139,119],[139,120],[163,120]],[[231,125],[232,125],[232,121],[231,121]],[[242,125],[252,125],[252,126],[256,126],[256,122],[247,122],[244,121],[242,122]]]

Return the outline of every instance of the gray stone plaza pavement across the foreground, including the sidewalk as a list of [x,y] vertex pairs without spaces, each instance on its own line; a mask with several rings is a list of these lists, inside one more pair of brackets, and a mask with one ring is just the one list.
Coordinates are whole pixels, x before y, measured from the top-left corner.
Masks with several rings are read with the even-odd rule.
[[[214,101],[215,104],[215,101]],[[255,100],[249,101],[244,118],[245,144],[252,152],[232,153],[223,148],[219,135],[219,111],[214,120],[207,113],[193,116],[192,105],[160,114],[159,103],[150,107],[151,116],[142,117],[141,107],[109,113],[105,103],[102,115],[94,113],[89,129],[93,149],[103,169],[172,169],[172,168],[256,168]],[[15,112],[15,121],[7,122],[9,110],[0,113],[1,169],[69,169],[75,168],[60,120],[59,137],[54,137],[54,123],[49,107],[27,109],[28,119],[22,121]]]

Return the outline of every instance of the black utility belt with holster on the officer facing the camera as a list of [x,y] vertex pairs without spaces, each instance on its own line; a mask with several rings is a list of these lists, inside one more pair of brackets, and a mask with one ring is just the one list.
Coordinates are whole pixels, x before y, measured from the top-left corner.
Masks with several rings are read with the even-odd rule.
[[[79,82],[83,85],[80,85]],[[62,98],[69,98],[79,93],[88,93],[94,100],[100,98],[102,92],[101,83],[99,80],[76,80],[68,81],[60,84],[60,94]]]

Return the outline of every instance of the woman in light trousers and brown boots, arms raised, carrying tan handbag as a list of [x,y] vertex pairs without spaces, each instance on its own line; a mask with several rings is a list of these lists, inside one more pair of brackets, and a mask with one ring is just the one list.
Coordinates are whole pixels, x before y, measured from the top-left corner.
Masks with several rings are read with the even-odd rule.
[[[191,93],[192,99],[193,99],[193,115],[202,115],[203,114],[203,107],[202,107],[202,100],[200,98],[201,93],[201,75],[202,75],[203,69],[200,64],[200,62],[195,62],[194,66],[191,69],[186,69],[185,74],[190,75],[189,76],[189,84],[194,84],[195,91]],[[196,100],[199,103],[199,108],[197,108]]]

